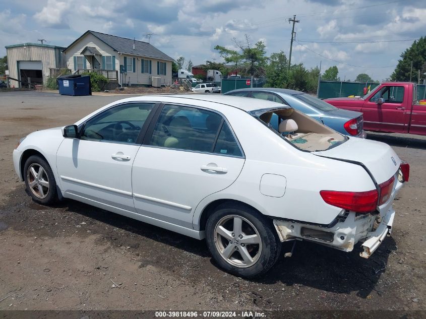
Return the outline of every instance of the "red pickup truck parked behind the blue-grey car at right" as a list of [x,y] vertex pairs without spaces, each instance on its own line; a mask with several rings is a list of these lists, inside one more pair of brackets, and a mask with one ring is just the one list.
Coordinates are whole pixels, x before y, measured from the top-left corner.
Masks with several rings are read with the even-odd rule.
[[362,98],[324,101],[362,112],[366,131],[426,135],[426,105],[418,104],[417,85],[413,83],[386,82]]

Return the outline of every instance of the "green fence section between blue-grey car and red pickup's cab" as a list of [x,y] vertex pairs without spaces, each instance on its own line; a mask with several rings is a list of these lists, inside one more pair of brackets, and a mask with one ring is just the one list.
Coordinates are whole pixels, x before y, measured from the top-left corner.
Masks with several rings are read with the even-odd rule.
[[379,83],[359,83],[359,82],[340,82],[340,81],[320,81],[318,97],[328,99],[332,97],[348,97],[350,95],[363,96],[365,87],[373,90]]

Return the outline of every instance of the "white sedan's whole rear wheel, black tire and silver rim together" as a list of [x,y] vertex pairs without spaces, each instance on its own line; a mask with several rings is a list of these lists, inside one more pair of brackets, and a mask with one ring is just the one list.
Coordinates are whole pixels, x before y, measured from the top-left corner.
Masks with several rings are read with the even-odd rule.
[[223,270],[239,277],[259,277],[271,269],[281,250],[271,224],[254,209],[224,203],[207,220],[207,246]]

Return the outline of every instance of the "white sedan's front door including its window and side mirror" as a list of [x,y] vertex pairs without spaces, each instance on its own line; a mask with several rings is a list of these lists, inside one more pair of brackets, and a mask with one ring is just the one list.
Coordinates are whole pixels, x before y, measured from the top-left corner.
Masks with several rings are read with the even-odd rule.
[[154,106],[138,102],[108,108],[83,124],[78,139],[64,139],[56,166],[65,197],[135,211],[132,164]]

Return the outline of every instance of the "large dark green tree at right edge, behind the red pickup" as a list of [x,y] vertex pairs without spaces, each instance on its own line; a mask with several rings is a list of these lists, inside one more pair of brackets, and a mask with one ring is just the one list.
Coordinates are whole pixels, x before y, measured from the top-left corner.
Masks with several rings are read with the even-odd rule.
[[401,59],[398,60],[398,65],[391,75],[392,81],[410,81],[411,61],[413,62],[411,81],[417,82],[417,70],[420,70],[420,78],[424,78],[423,73],[426,72],[426,37],[414,41],[409,48],[401,53],[400,57]]

